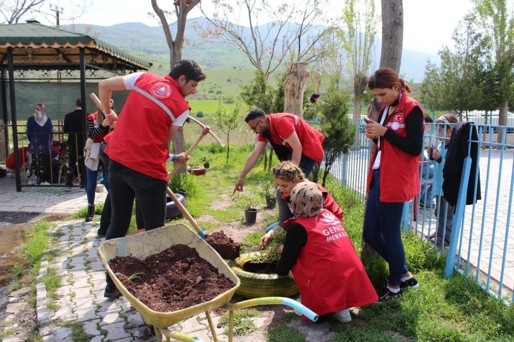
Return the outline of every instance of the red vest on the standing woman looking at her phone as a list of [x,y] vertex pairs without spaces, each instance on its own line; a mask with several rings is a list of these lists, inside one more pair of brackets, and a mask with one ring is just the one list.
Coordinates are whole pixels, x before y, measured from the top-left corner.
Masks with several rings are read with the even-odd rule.
[[[401,100],[394,111],[386,119],[387,129],[406,137],[405,120],[414,107],[423,107],[414,99],[402,93]],[[382,107],[382,110],[384,107]],[[407,202],[419,193],[419,156],[405,153],[393,146],[387,139],[380,140],[380,201],[381,202]],[[377,157],[378,146],[375,146],[373,159],[368,173],[366,189],[371,187],[373,177],[373,163]]]

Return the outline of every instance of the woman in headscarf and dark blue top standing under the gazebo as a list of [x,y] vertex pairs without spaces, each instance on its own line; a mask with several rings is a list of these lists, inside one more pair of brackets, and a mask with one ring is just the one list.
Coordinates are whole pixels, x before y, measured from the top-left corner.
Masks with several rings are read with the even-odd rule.
[[46,107],[38,103],[34,115],[27,119],[27,138],[32,155],[30,173],[35,174],[41,185],[50,185],[52,182],[52,134],[52,121],[46,116]]

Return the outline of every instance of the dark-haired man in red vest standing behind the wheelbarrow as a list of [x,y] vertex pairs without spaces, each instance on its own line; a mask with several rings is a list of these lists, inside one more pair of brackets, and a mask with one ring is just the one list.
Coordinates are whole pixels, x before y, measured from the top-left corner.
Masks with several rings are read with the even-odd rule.
[[[130,90],[117,119],[111,109],[104,110],[116,128],[106,137],[105,153],[111,158],[112,219],[105,240],[125,236],[132,217],[134,198],[141,208],[145,229],[164,226],[168,171],[166,160],[175,132],[186,121],[191,107],[185,98],[196,93],[206,75],[194,61],[178,62],[170,74],[161,77],[137,72],[113,77],[98,84],[103,108],[110,108],[111,93]],[[189,157],[172,155],[185,163]],[[107,275],[104,297],[116,298],[119,290]]]

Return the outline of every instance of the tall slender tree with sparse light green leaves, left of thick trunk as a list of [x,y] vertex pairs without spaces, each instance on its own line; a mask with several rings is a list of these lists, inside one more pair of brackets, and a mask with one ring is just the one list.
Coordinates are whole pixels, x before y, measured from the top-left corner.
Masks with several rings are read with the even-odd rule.
[[[359,8],[362,3],[361,10]],[[373,43],[377,34],[378,17],[373,0],[346,0],[343,9],[346,32],[339,30],[346,51],[346,65],[353,80],[353,117],[360,119],[362,100],[368,84],[368,73],[372,64]]]

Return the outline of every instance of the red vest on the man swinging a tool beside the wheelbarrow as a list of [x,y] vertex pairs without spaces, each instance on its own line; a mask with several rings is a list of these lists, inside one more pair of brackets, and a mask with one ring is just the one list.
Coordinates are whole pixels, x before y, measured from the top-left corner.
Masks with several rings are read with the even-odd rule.
[[105,153],[128,168],[168,181],[169,151],[164,146],[168,126],[187,109],[191,107],[175,80],[141,74],[128,93],[116,128],[105,137]]

